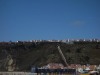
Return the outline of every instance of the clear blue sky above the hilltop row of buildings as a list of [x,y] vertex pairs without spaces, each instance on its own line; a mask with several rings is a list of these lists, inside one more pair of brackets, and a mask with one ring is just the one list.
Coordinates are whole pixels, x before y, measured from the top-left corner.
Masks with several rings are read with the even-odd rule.
[[0,0],[0,41],[100,39],[100,0]]

